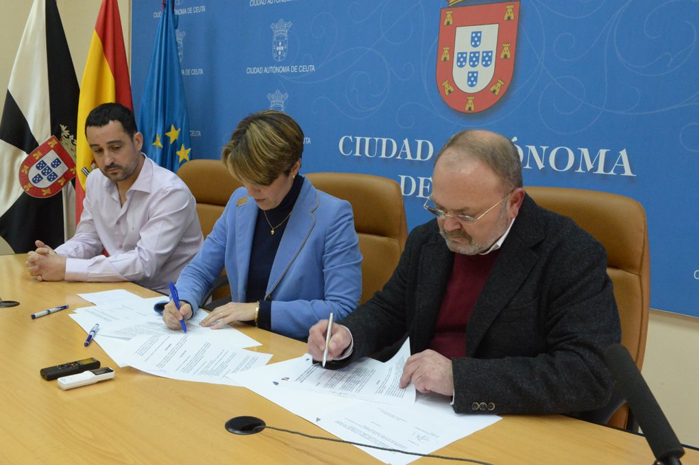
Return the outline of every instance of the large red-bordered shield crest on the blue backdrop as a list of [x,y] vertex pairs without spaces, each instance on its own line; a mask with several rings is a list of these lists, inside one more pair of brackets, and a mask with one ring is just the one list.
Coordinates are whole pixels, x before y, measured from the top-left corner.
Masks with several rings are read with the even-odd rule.
[[454,110],[481,112],[512,82],[519,1],[473,6],[447,1],[440,13],[437,88]]

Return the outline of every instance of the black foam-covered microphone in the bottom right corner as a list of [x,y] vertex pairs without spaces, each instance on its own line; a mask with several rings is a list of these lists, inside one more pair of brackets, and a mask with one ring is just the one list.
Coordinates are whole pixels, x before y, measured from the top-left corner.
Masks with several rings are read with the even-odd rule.
[[626,347],[613,344],[607,348],[605,363],[643,430],[656,464],[679,465],[684,449]]

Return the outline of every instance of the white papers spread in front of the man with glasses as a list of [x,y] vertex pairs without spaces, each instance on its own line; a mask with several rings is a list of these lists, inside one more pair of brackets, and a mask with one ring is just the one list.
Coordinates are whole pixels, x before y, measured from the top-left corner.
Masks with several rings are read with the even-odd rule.
[[[380,448],[428,454],[500,420],[496,415],[456,414],[448,397],[419,393],[416,397],[412,384],[398,388],[409,355],[410,341],[405,341],[388,362],[367,359],[343,369],[344,373],[313,365],[307,354],[231,378],[338,438]],[[403,465],[419,458],[359,448],[387,464]]]

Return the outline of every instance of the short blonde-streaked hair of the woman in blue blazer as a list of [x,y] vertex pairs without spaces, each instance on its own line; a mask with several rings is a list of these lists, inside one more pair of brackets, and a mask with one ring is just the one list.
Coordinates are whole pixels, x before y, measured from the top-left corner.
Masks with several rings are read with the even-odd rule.
[[289,175],[301,154],[301,126],[286,113],[264,110],[238,123],[221,158],[234,177],[269,186],[282,173]]

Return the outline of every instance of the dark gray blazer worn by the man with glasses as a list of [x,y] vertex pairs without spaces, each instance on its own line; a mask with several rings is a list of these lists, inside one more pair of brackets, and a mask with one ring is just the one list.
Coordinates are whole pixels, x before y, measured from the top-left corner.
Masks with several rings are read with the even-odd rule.
[[[452,272],[436,220],[410,233],[383,290],[338,323],[356,360],[406,333],[428,348]],[[603,362],[621,339],[605,249],[571,219],[526,195],[454,358],[458,413],[577,413],[606,404],[613,381]]]

